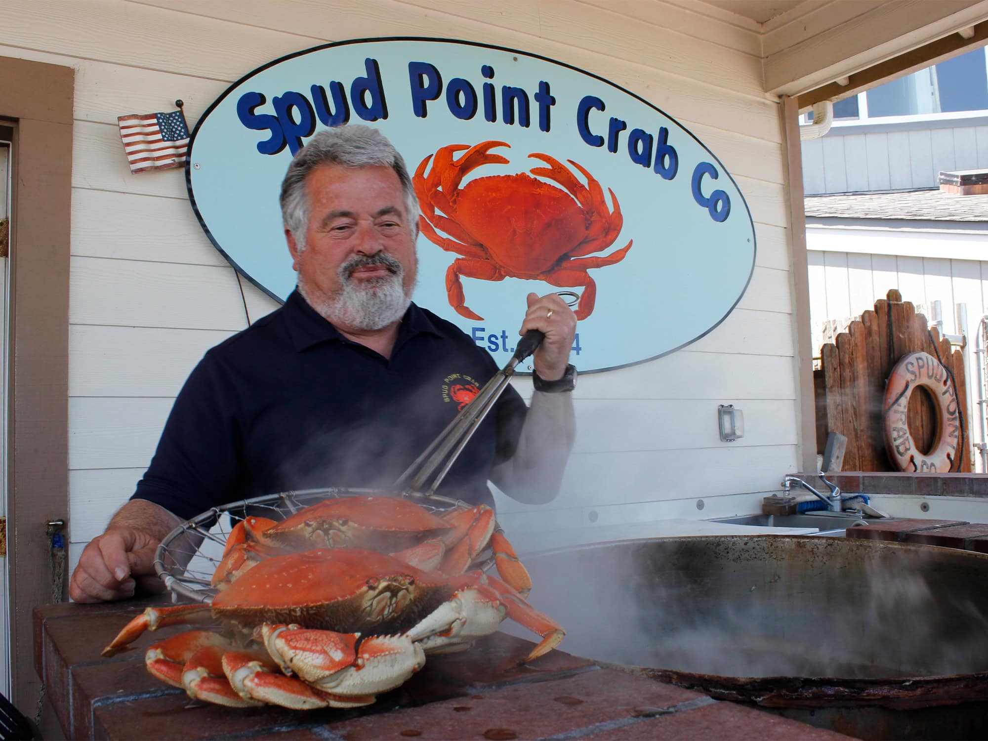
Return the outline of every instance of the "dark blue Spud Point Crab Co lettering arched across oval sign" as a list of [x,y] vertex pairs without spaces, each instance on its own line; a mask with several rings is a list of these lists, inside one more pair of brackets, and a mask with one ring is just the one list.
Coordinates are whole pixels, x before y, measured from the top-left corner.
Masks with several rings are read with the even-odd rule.
[[[257,143],[261,154],[278,154],[285,147],[294,154],[302,147],[302,139],[315,131],[317,122],[326,126],[346,124],[351,120],[351,110],[363,121],[386,120],[387,95],[380,66],[371,57],[365,59],[364,64],[365,74],[350,82],[349,97],[344,83],[338,80],[331,80],[325,86],[314,83],[309,87],[308,95],[295,90],[285,91],[272,98],[270,105],[263,93],[249,91],[237,100],[237,118],[247,128],[270,132],[267,139]],[[535,113],[538,129],[546,133],[551,129],[556,98],[547,81],[537,80],[527,87],[507,84],[498,87],[491,82],[494,78],[494,67],[483,64],[479,77],[472,82],[466,77],[453,77],[444,82],[436,65],[410,61],[407,96],[402,92],[401,100],[410,105],[412,113],[420,119],[427,119],[431,113],[433,116],[452,116],[459,121],[500,122],[528,128]],[[392,82],[389,87],[395,85],[400,83]],[[535,91],[531,96],[530,90]],[[445,106],[437,103],[441,98]],[[430,107],[432,103],[437,105]],[[263,113],[265,110],[270,113]],[[606,146],[613,154],[623,149],[630,165],[651,169],[663,180],[674,180],[680,171],[680,159],[675,142],[669,140],[669,129],[660,126],[658,131],[648,131],[617,116],[608,117],[607,110],[603,99],[585,95],[573,111],[562,113],[575,118],[577,131],[587,146]],[[478,113],[482,114],[481,119],[477,119]],[[710,191],[708,182],[719,175],[712,163],[699,162],[693,168],[690,188],[697,205],[705,208],[714,221],[722,222],[731,212],[730,197],[719,189]]]

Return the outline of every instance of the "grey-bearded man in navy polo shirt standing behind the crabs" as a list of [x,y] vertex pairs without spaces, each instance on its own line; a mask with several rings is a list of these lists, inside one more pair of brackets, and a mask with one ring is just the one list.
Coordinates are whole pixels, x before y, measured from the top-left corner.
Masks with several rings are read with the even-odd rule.
[[[297,289],[206,353],[133,497],[72,574],[76,602],[160,589],[154,549],[210,507],[289,489],[386,486],[497,370],[473,341],[411,303],[418,204],[404,161],[374,128],[316,134],[282,185]],[[246,216],[247,214],[245,214]],[[487,480],[529,503],[558,491],[574,436],[568,366],[576,317],[528,296],[540,330],[532,408],[509,387],[437,493],[492,504]]]

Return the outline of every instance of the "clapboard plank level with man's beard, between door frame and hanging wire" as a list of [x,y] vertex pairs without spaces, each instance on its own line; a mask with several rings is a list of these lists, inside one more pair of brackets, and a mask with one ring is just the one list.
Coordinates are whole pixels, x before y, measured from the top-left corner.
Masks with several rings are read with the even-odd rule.
[[241,330],[247,315],[233,269],[78,257],[69,270],[69,321]]

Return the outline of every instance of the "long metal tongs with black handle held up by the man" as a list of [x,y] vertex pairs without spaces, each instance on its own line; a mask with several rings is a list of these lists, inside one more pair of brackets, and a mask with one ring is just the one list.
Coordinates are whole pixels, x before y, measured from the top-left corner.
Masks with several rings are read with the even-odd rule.
[[[470,403],[453,418],[453,421],[447,425],[432,445],[405,469],[405,472],[394,482],[394,487],[433,496],[453,466],[456,457],[470,442],[470,438],[480,427],[480,423],[484,421],[487,413],[494,408],[494,403],[498,400],[505,386],[508,385],[508,380],[515,374],[518,364],[535,353],[544,339],[545,334],[537,329],[530,329],[526,332],[515,348],[515,355],[508,361],[508,365],[494,373],[493,377],[484,384],[476,396],[470,399]],[[426,490],[424,488],[426,482],[433,474],[436,474],[436,478]]]

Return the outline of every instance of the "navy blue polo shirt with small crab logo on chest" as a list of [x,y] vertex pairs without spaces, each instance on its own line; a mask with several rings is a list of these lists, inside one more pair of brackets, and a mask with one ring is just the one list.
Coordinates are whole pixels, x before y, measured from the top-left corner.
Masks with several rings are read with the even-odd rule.
[[[189,519],[288,490],[388,486],[497,370],[457,327],[414,303],[385,359],[294,291],[206,353],[133,498]],[[508,386],[437,493],[493,505],[491,466],[514,453],[525,413]]]

